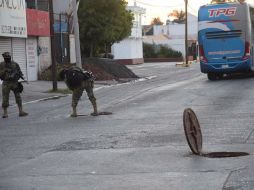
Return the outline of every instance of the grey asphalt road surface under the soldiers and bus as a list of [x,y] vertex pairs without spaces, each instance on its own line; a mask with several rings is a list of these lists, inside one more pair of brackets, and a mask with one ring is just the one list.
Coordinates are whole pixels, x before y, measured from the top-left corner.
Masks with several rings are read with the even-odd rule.
[[[252,190],[254,189],[254,77],[208,81],[199,65],[130,66],[137,81],[95,90],[100,111],[90,116],[83,95],[70,118],[71,97],[26,104],[29,117],[0,119],[0,189],[3,190]],[[193,155],[183,130],[192,108],[203,152],[244,151],[249,156]]]

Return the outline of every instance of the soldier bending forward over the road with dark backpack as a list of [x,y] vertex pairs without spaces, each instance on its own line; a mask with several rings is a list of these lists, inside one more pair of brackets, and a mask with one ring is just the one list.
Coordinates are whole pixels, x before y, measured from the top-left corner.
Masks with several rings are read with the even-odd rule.
[[[68,81],[68,72],[70,70],[76,70],[77,72],[82,72],[84,75],[89,75],[89,76],[87,78],[85,77],[84,79],[77,79],[77,80],[80,80],[80,82],[78,82],[77,85],[72,85],[71,82]],[[72,77],[75,78],[75,76],[72,76]],[[93,111],[93,113],[91,113],[91,115],[97,116],[98,110],[97,110],[96,98],[93,93],[94,76],[89,72],[83,71],[79,67],[72,67],[69,70],[63,69],[60,72],[60,78],[62,78],[65,81],[68,88],[70,90],[72,90],[72,114],[71,114],[71,117],[78,116],[77,105],[78,105],[78,101],[80,100],[84,90],[86,91],[88,98],[93,106],[94,111]]]

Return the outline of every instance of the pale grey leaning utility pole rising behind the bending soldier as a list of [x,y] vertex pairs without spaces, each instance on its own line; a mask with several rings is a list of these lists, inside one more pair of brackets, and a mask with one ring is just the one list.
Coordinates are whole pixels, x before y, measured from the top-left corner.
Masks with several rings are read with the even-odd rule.
[[81,53],[80,53],[80,40],[79,40],[79,24],[78,24],[78,11],[77,2],[72,0],[73,9],[73,25],[74,25],[74,35],[75,35],[75,51],[76,51],[76,66],[82,68]]

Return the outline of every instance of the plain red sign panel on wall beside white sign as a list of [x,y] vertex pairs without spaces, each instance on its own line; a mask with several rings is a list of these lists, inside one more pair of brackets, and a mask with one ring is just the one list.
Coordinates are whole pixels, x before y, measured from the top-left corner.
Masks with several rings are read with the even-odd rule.
[[50,36],[49,13],[35,9],[26,9],[27,35]]

